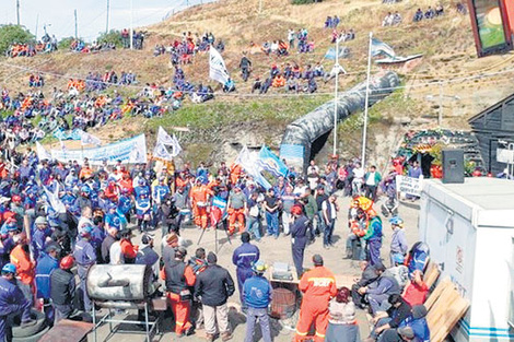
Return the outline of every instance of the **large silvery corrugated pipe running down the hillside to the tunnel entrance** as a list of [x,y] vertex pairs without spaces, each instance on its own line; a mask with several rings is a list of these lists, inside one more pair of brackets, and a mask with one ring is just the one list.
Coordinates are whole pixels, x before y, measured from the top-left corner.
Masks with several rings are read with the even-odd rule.
[[[370,82],[369,105],[373,106],[379,99],[393,93],[400,84],[398,74],[387,71],[374,76]],[[294,120],[287,128],[282,138],[282,144],[303,145],[303,170],[306,170],[311,158],[312,144],[316,139],[334,129],[334,111],[337,107],[338,122],[344,120],[351,114],[363,110],[365,103],[366,82],[359,83],[349,91],[338,96],[338,105],[330,101],[304,117]]]

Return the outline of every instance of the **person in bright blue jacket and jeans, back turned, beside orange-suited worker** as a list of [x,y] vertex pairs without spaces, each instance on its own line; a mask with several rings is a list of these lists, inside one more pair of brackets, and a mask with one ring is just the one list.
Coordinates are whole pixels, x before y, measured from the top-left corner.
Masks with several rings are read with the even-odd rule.
[[262,261],[259,260],[255,262],[252,270],[254,275],[248,278],[243,286],[245,305],[248,308],[246,312],[246,334],[244,342],[254,341],[255,322],[257,319],[260,323],[260,332],[264,342],[271,342],[268,306],[271,302],[273,288],[264,276],[267,266]]

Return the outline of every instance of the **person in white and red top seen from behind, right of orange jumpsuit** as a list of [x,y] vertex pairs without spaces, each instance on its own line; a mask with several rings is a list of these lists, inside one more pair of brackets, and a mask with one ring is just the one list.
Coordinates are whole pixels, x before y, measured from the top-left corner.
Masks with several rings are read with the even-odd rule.
[[328,304],[328,328],[325,341],[357,342],[360,340],[355,305],[351,302],[350,290],[341,287]]

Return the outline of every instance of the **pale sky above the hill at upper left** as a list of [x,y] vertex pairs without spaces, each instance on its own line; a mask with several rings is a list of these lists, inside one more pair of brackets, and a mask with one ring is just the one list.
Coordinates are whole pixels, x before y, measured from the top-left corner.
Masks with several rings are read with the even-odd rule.
[[[37,38],[48,34],[57,38],[74,36],[74,16],[77,9],[79,36],[87,42],[94,40],[105,32],[107,0],[19,0],[20,22]],[[132,0],[133,26],[157,23],[188,5],[211,2],[213,0]],[[16,23],[16,0],[2,0],[0,24]],[[121,30],[130,26],[130,0],[109,0],[109,28]]]

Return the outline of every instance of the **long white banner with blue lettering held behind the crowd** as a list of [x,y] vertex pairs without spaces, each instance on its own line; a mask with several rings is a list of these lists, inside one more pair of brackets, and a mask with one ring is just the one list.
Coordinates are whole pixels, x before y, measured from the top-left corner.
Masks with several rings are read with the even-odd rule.
[[140,134],[96,149],[51,150],[51,157],[59,162],[78,161],[79,163],[87,158],[93,165],[102,165],[104,161],[109,164],[115,164],[117,161],[131,164],[147,163],[147,139],[144,134]]

